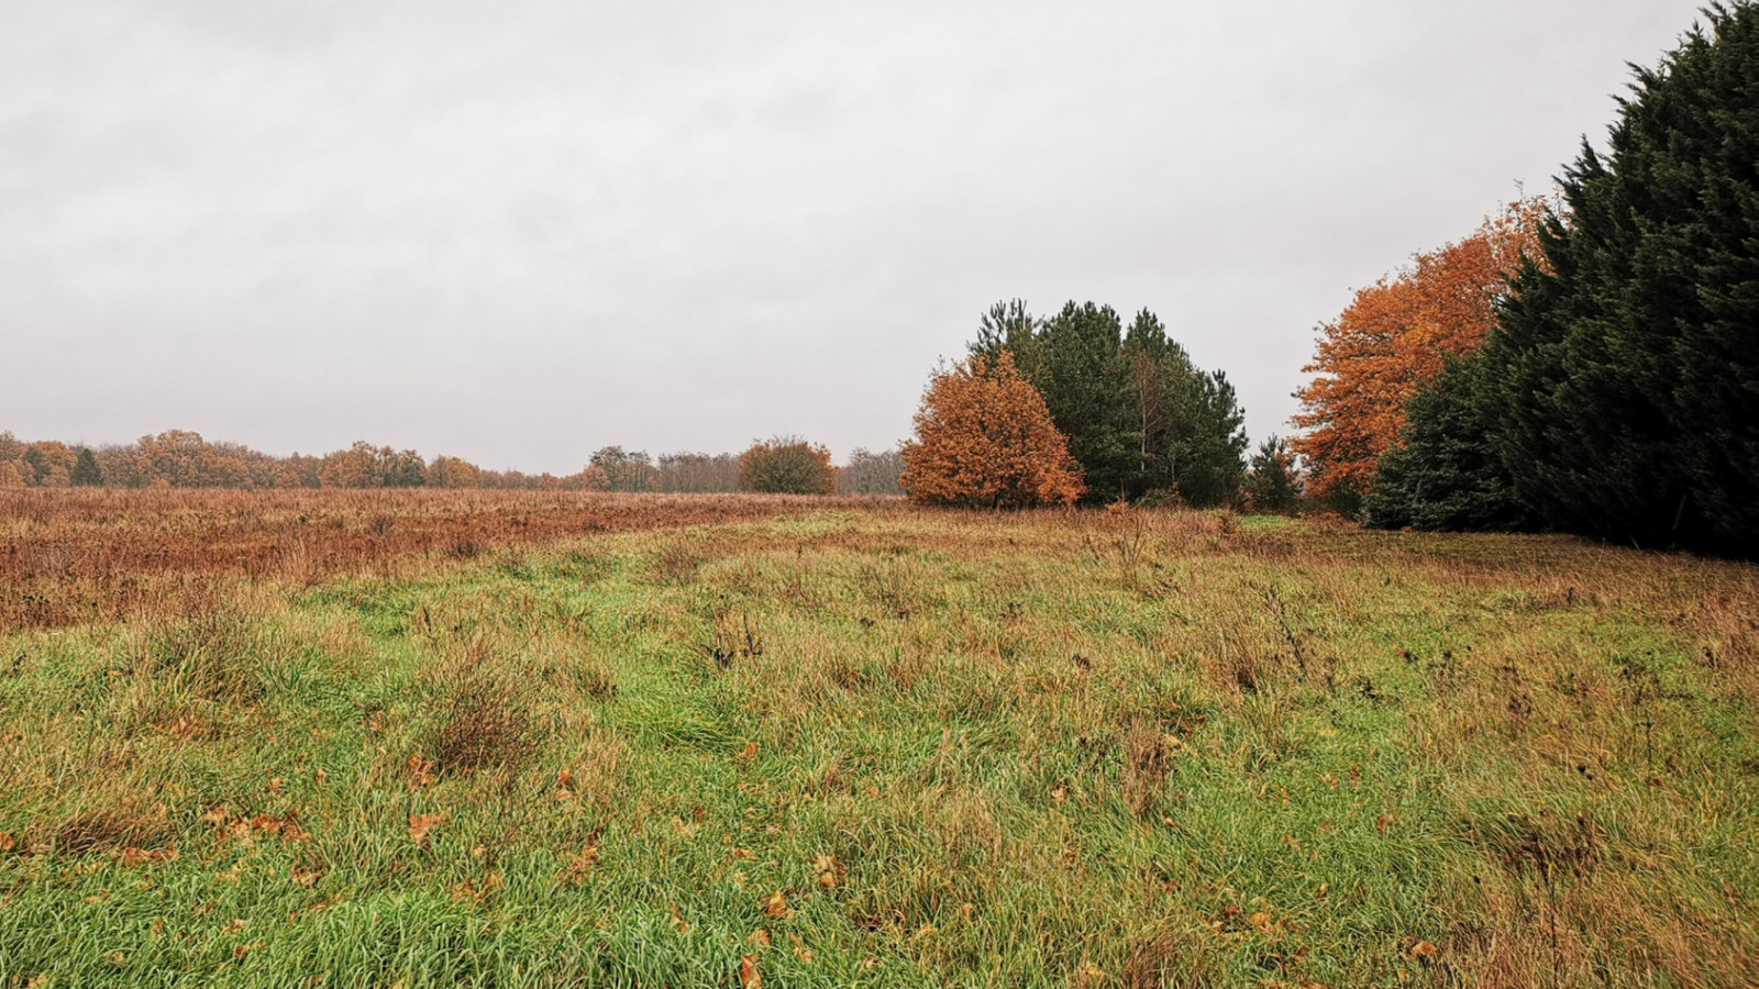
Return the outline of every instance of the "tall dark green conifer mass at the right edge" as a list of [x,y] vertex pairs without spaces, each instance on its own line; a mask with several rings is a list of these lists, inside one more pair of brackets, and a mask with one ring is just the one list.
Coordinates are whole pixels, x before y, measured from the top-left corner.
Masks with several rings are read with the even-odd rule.
[[[1759,9],[1638,70],[1609,151],[1456,382],[1412,407],[1381,521],[1506,519],[1759,554]],[[1478,426],[1483,443],[1462,443]],[[1411,479],[1423,479],[1416,484]]]

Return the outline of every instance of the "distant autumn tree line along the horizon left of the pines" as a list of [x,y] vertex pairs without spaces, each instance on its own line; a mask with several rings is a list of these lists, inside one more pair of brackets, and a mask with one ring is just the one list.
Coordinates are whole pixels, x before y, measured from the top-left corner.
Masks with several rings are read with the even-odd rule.
[[899,494],[897,451],[857,449],[843,470],[830,451],[797,436],[756,442],[744,454],[603,447],[570,475],[487,470],[466,459],[357,442],[324,456],[276,458],[172,429],[127,445],[21,442],[0,431],[0,487],[503,487],[628,493]]

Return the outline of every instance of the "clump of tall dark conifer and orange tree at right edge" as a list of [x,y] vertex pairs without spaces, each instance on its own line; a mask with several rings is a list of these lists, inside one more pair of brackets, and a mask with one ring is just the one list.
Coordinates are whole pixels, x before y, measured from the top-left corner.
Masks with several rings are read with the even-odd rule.
[[1333,507],[1759,556],[1759,9],[1704,18],[1485,264],[1420,257],[1323,329],[1295,445]]

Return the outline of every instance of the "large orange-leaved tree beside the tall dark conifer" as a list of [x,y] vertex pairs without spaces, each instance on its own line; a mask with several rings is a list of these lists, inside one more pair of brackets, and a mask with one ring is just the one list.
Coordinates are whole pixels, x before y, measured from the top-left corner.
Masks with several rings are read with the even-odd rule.
[[1448,357],[1485,343],[1504,275],[1523,253],[1537,255],[1544,202],[1511,202],[1472,236],[1418,253],[1411,267],[1356,292],[1332,324],[1303,371],[1317,371],[1300,389],[1307,429],[1289,445],[1305,459],[1309,494],[1356,510],[1374,484],[1381,456],[1405,426],[1405,403],[1435,378]]

